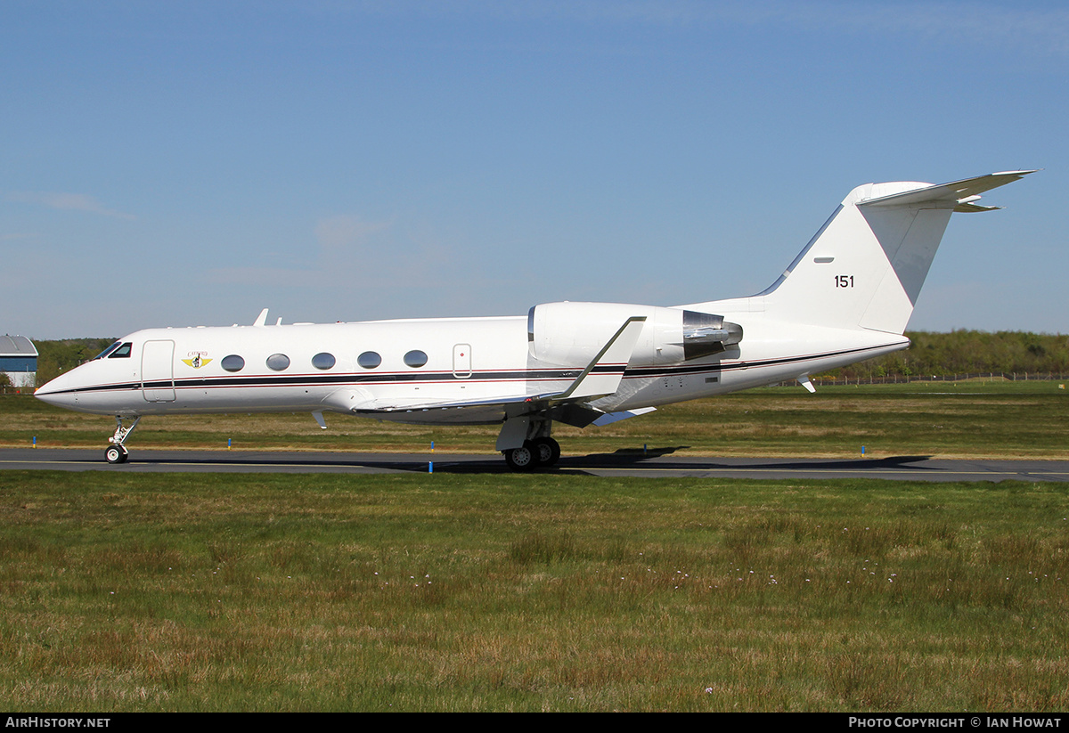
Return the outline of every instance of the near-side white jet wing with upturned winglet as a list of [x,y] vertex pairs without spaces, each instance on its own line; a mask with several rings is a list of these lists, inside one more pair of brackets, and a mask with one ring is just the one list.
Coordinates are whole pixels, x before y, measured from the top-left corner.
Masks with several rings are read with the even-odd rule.
[[[475,421],[496,423],[523,415],[554,410],[563,416],[559,419],[563,419],[564,422],[585,426],[607,414],[582,406],[579,403],[613,394],[617,390],[645,323],[645,315],[628,318],[575,380],[559,392],[506,395],[469,402],[438,401],[414,405],[357,407],[352,412],[365,417],[389,416],[390,420],[398,422],[434,421],[470,424]],[[569,417],[571,419],[568,419]]]

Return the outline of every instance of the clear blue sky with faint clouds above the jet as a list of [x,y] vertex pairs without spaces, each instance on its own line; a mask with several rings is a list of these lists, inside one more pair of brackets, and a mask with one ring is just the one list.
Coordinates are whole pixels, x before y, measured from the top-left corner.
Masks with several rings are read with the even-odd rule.
[[0,3],[0,331],[749,295],[856,185],[956,215],[910,328],[1069,332],[1060,2]]

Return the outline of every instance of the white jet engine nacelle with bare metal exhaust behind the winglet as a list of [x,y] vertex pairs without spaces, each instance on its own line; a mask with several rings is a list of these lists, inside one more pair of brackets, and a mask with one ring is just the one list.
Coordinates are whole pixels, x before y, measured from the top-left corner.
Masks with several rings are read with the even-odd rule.
[[712,313],[628,303],[547,302],[527,313],[530,355],[548,364],[585,365],[632,316],[646,317],[629,362],[633,367],[690,361],[742,341],[742,326]]

